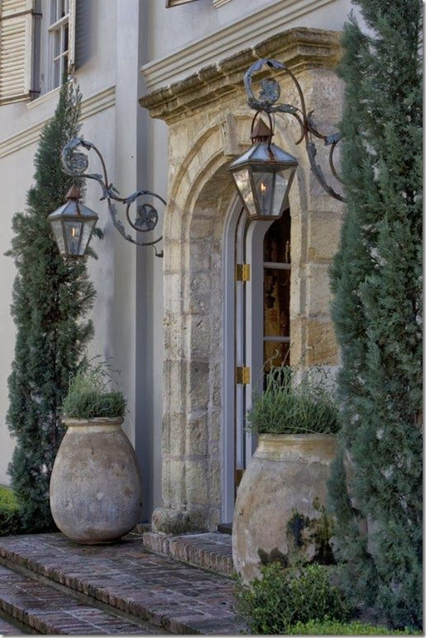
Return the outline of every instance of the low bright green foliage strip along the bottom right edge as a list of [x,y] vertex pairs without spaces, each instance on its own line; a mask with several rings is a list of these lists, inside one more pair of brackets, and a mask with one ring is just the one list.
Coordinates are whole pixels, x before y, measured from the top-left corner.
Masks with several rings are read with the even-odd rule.
[[297,622],[289,629],[289,634],[299,636],[374,636],[376,634],[386,636],[402,636],[421,634],[412,629],[388,629],[388,627],[369,625],[367,622],[352,620],[340,622],[340,620],[309,620],[309,622]]

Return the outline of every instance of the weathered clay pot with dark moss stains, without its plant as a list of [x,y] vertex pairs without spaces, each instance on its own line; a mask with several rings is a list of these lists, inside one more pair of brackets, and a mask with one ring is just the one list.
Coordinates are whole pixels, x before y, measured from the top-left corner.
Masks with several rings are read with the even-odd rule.
[[234,567],[244,582],[259,578],[267,562],[288,566],[331,554],[323,505],[336,449],[333,435],[260,435],[232,525]]

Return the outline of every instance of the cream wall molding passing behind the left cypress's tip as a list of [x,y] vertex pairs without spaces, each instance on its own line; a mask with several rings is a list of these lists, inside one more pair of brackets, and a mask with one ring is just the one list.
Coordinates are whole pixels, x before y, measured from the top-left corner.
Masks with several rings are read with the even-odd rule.
[[[52,91],[53,92],[53,91]],[[50,94],[48,94],[51,96]],[[41,99],[41,98],[40,98]],[[104,89],[99,93],[88,97],[86,100],[81,102],[81,118],[80,120],[86,120],[96,113],[100,111],[105,111],[105,108],[110,108],[110,106],[114,106],[115,104],[115,86],[110,86],[108,89]],[[56,106],[56,101],[54,105]],[[45,124],[50,120],[50,118],[45,118],[45,120],[30,126],[29,128],[25,128],[25,130],[21,130],[20,133],[16,133],[12,135],[10,138],[6,138],[6,140],[0,141],[0,159],[2,157],[6,157],[6,155],[11,155],[11,153],[15,153],[21,148],[25,148],[26,146],[30,146],[38,141],[40,137],[40,133]]]

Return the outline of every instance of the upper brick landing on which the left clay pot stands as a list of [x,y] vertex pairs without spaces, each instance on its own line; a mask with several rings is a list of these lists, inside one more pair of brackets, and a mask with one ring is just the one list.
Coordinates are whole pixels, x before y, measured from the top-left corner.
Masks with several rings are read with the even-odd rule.
[[111,545],[79,545],[62,534],[0,538],[0,559],[84,593],[175,634],[242,633],[230,578],[144,549],[129,535]]

